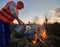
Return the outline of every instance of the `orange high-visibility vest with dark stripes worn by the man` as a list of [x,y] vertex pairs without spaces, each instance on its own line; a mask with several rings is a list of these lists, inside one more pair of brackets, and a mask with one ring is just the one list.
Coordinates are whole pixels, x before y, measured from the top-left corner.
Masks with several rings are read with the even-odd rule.
[[[16,8],[16,14],[18,14],[17,8]],[[12,14],[11,10],[7,6],[2,8],[2,10],[0,11],[0,19],[2,19],[7,23],[11,23],[15,19],[13,16],[14,15]]]

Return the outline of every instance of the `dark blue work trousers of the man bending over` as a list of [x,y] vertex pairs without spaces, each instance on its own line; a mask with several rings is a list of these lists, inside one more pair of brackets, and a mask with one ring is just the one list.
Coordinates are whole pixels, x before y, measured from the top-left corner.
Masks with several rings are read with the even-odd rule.
[[10,44],[10,34],[10,24],[0,20],[0,47],[5,47],[6,45]]

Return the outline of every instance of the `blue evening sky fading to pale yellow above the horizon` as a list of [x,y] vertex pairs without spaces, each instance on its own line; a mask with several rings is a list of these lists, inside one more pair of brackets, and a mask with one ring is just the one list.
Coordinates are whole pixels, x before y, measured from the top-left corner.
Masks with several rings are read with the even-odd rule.
[[[0,0],[0,9],[8,1],[10,0]],[[17,2],[19,0],[13,1]],[[60,12],[60,0],[21,0],[21,1],[24,2],[25,8],[24,10],[19,11],[19,18],[22,19],[22,21],[24,22],[32,21],[35,16],[38,16],[40,21],[44,21],[44,14],[55,15],[56,13]],[[52,16],[50,21],[54,21],[54,19],[56,18]]]

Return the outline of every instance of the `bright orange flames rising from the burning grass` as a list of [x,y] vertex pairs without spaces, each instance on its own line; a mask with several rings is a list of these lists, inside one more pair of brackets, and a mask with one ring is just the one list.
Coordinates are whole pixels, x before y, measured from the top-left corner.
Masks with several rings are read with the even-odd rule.
[[46,30],[43,29],[41,30],[40,33],[38,33],[39,31],[37,29],[35,29],[36,34],[34,35],[34,40],[32,40],[32,43],[35,45],[37,43],[37,39],[40,37],[40,42],[44,43],[44,41],[47,39],[47,34],[46,34]]

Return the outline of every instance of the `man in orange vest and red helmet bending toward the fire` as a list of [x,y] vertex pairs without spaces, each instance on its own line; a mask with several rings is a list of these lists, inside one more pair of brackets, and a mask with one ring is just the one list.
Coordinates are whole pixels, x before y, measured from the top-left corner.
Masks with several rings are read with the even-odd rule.
[[17,4],[14,1],[10,1],[0,10],[0,47],[5,47],[10,44],[10,24],[14,19],[16,19],[19,24],[24,24],[18,18],[18,10],[23,8],[24,3],[22,1],[18,1]]

